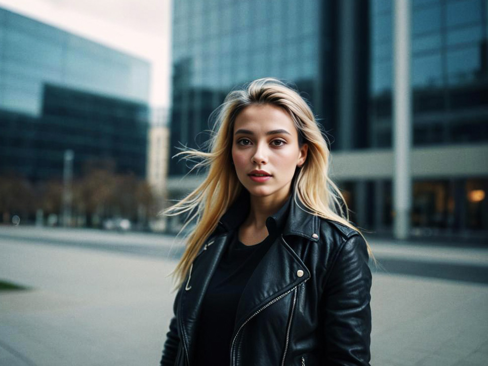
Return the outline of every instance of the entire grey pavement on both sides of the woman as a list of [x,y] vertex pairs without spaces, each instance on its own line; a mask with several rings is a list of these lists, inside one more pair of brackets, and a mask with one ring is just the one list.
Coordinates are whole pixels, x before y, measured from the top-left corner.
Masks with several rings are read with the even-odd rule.
[[[372,365],[485,365],[488,245],[371,239]],[[173,236],[0,227],[0,366],[158,364]]]

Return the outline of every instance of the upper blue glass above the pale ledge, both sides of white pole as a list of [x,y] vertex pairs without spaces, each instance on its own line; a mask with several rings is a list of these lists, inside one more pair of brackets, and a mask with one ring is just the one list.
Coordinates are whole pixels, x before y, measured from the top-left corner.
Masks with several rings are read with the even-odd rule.
[[[393,2],[371,11],[370,147],[391,147]],[[413,142],[488,141],[488,23],[484,0],[413,0]]]

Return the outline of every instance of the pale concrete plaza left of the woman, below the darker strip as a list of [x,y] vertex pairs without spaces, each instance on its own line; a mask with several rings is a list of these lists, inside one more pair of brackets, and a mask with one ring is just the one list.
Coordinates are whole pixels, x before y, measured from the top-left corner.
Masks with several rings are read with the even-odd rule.
[[4,240],[0,278],[33,290],[0,293],[0,365],[157,364],[174,264]]

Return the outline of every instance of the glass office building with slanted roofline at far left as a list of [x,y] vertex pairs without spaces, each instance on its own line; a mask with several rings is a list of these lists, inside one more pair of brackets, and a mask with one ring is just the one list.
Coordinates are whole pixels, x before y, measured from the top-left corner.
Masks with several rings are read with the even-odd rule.
[[32,182],[93,160],[146,173],[150,65],[0,9],[0,173]]

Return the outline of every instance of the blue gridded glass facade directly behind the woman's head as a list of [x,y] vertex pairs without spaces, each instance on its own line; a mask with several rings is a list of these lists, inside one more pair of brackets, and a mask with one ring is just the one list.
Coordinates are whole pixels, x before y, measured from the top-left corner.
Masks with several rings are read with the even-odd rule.
[[[319,0],[173,2],[171,155],[197,147],[212,110],[236,85],[273,76],[321,104]],[[203,138],[205,140],[205,138]],[[170,174],[187,172],[170,161]]]

